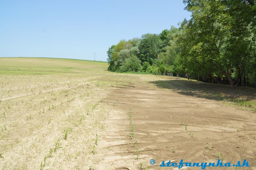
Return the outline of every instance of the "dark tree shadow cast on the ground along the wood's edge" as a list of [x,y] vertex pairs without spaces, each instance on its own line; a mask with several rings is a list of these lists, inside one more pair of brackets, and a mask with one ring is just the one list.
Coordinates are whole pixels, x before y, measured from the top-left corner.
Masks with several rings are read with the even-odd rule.
[[197,82],[184,78],[168,78],[168,80],[151,81],[159,88],[171,89],[182,95],[210,100],[256,100],[256,89],[228,85]]

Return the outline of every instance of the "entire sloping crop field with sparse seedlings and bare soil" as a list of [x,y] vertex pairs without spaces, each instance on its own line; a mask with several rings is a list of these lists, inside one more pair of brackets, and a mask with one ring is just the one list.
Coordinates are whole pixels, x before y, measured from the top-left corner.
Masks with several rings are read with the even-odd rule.
[[0,58],[0,169],[168,169],[163,160],[180,159],[256,169],[255,89],[107,68]]

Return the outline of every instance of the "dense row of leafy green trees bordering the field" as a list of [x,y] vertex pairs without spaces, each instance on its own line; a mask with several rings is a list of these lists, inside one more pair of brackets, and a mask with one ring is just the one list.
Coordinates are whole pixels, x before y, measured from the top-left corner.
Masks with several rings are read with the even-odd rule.
[[256,88],[255,0],[183,0],[189,20],[109,47],[108,70]]

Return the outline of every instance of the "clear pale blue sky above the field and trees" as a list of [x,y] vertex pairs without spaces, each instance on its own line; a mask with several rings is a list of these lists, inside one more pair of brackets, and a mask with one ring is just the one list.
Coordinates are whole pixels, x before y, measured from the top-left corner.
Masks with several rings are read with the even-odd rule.
[[106,61],[121,39],[161,33],[190,13],[182,0],[0,2],[0,57]]

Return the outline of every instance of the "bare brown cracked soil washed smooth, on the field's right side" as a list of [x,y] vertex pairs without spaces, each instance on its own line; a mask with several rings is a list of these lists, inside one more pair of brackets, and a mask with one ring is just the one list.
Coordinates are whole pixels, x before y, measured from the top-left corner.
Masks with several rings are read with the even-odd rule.
[[[131,170],[140,162],[142,168],[161,169],[163,160],[217,162],[219,158],[232,164],[247,159],[256,169],[255,114],[156,88],[145,76],[134,78],[140,81],[110,87],[111,95],[104,100],[110,113],[92,158],[97,169]],[[150,165],[150,159],[156,164]]]

